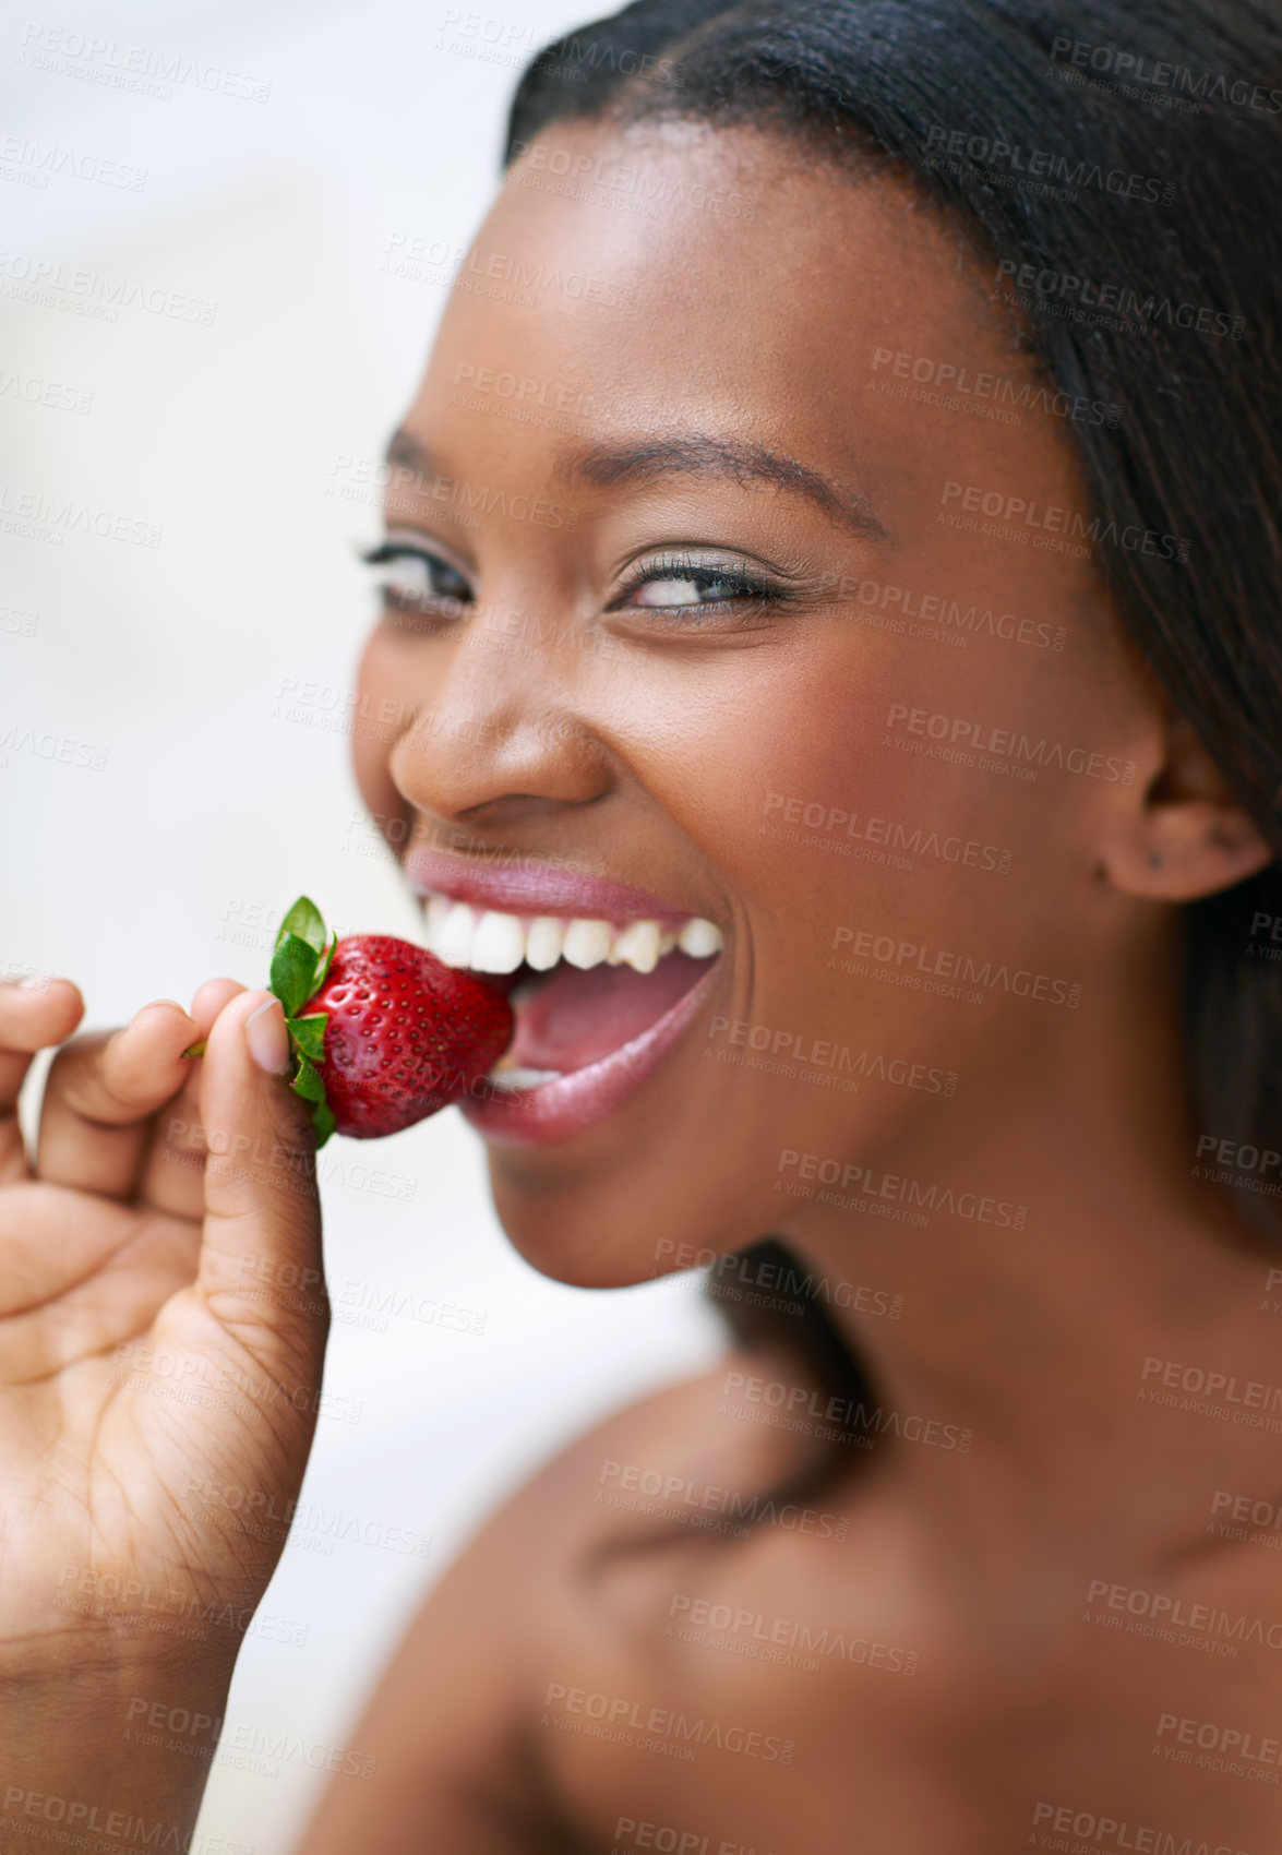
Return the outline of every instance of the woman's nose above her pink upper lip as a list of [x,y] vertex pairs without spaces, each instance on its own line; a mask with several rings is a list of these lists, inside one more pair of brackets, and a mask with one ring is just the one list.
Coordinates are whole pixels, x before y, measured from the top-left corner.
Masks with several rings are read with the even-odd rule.
[[557,655],[519,621],[495,627],[481,614],[449,653],[430,653],[388,766],[416,812],[501,831],[612,790],[610,751],[575,712]]

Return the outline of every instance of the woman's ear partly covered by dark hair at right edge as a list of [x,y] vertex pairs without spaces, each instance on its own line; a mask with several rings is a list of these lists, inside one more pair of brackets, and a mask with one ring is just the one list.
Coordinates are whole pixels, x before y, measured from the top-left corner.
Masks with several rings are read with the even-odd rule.
[[1165,718],[1163,749],[1143,801],[1117,822],[1100,859],[1111,887],[1152,902],[1197,902],[1273,863],[1269,842],[1182,716]]

